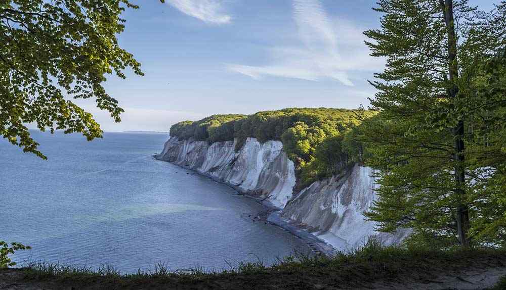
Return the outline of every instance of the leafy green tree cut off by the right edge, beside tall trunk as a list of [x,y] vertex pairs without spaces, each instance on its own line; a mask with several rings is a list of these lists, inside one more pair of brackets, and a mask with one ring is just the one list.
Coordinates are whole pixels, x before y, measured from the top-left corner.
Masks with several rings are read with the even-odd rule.
[[[506,6],[502,9],[506,10]],[[506,13],[501,14],[506,17]],[[493,23],[493,21],[491,22]],[[471,200],[476,218],[471,233],[484,243],[506,245],[506,50],[485,63],[473,104],[472,143],[469,176]],[[474,103],[474,102],[473,102]],[[481,146],[480,146],[481,145]]]

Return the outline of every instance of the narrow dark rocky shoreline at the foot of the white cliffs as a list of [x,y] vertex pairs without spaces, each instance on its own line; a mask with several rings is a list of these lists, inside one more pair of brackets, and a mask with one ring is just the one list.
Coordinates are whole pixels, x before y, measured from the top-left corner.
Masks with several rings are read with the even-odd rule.
[[234,189],[234,191],[237,192],[237,195],[246,196],[246,197],[256,201],[257,203],[262,205],[264,207],[264,209],[266,210],[266,216],[262,217],[263,219],[265,219],[265,221],[267,221],[268,223],[275,225],[275,226],[289,232],[290,234],[300,238],[309,247],[309,249],[311,251],[313,251],[313,253],[321,254],[321,255],[324,255],[327,257],[332,257],[337,253],[337,250],[332,245],[326,243],[326,241],[324,241],[323,239],[304,230],[301,227],[294,225],[289,220],[282,218],[281,215],[279,214],[282,211],[282,209],[274,206],[271,202],[267,201],[265,198],[262,199],[257,196],[251,195],[250,192],[241,189],[239,186],[231,184],[226,181],[223,181],[223,180],[221,180],[215,176],[212,176],[210,174],[200,172],[200,171],[190,168],[188,166],[184,166],[184,165],[173,163],[170,161],[158,159],[157,158],[158,156],[159,156],[159,154],[153,154],[152,158],[157,161],[168,162],[170,164],[176,165],[176,166],[181,167],[183,169],[191,170],[191,171],[195,172],[196,174],[199,174],[200,176],[207,177],[215,182],[218,182],[220,184],[226,185],[226,186]]

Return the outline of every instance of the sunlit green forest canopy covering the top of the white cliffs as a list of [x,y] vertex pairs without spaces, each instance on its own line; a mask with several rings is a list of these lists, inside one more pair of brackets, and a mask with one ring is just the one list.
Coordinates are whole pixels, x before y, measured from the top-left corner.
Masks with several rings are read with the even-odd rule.
[[[214,115],[177,123],[171,127],[171,136],[209,143],[237,138],[236,149],[248,137],[260,142],[281,140],[284,151],[300,169],[303,184],[307,184],[335,174],[359,155],[354,147],[341,143],[350,128],[373,114],[363,109],[288,108],[249,116]],[[352,149],[353,155],[345,148]]]

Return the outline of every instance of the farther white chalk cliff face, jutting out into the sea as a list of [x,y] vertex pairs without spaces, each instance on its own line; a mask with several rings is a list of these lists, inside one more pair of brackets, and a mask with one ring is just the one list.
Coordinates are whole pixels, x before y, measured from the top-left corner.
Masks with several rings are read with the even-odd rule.
[[282,143],[248,138],[238,152],[234,147],[233,141],[209,146],[206,141],[172,137],[156,158],[209,174],[244,191],[269,196],[273,205],[283,208],[292,196],[296,178]]

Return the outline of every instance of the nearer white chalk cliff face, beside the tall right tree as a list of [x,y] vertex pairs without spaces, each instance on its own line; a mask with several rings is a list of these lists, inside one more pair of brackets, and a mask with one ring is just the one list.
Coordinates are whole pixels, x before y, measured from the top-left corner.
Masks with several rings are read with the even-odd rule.
[[386,245],[399,243],[408,231],[380,233],[374,222],[365,220],[364,212],[376,200],[372,174],[370,167],[354,165],[342,175],[314,182],[286,205],[282,216],[315,231],[338,250],[352,250],[370,236]]

